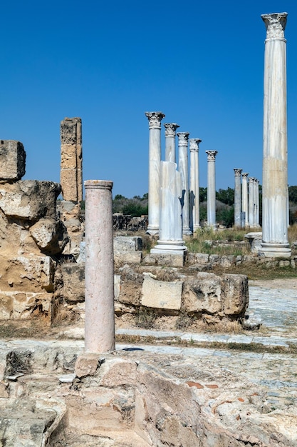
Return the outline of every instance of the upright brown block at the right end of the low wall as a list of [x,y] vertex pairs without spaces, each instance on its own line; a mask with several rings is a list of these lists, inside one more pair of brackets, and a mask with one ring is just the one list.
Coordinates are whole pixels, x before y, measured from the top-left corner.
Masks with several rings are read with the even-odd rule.
[[245,275],[222,275],[222,301],[226,315],[244,315],[249,306],[249,282]]

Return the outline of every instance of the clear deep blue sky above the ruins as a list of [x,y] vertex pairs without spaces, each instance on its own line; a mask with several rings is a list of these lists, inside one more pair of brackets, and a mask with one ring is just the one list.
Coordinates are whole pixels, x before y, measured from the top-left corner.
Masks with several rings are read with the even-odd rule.
[[202,139],[200,186],[209,149],[217,189],[234,187],[234,168],[261,181],[261,14],[288,12],[288,184],[297,184],[296,0],[16,0],[0,11],[0,138],[24,144],[24,178],[59,181],[60,121],[80,116],[84,180],[113,180],[127,197],[148,189],[145,111]]

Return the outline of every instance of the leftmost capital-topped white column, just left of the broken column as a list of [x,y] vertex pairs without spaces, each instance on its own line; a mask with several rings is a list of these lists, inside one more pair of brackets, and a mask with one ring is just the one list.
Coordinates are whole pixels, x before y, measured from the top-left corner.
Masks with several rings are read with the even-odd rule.
[[147,233],[159,233],[160,220],[160,161],[162,112],[145,112],[149,120],[149,191]]

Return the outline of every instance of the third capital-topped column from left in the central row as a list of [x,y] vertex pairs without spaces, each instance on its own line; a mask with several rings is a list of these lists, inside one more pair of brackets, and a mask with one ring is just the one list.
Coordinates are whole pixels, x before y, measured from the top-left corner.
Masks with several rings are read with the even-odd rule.
[[189,132],[178,132],[179,172],[182,176],[182,234],[191,235],[189,229],[189,167],[188,141]]

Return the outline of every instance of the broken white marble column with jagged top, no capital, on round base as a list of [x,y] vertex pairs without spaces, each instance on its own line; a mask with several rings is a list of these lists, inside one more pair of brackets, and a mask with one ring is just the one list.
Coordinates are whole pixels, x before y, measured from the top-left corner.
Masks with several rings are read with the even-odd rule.
[[184,255],[187,249],[182,240],[182,176],[177,164],[160,162],[160,233],[151,253]]

